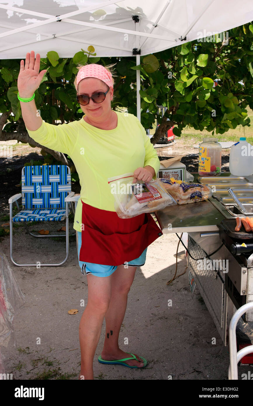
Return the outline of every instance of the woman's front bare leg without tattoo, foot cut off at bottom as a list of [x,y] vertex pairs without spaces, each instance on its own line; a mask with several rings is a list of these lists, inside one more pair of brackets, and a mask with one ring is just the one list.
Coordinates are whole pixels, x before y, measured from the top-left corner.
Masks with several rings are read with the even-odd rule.
[[88,303],[79,325],[81,371],[79,379],[93,378],[93,358],[100,338],[104,316],[111,298],[112,275],[87,275]]

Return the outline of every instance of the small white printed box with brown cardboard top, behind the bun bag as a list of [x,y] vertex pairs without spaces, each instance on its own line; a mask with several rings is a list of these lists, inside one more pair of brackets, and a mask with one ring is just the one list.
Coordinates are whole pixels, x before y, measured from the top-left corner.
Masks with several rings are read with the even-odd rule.
[[181,155],[176,158],[169,158],[167,160],[160,161],[160,169],[158,171],[159,178],[173,177],[175,180],[186,180],[186,166],[180,162]]

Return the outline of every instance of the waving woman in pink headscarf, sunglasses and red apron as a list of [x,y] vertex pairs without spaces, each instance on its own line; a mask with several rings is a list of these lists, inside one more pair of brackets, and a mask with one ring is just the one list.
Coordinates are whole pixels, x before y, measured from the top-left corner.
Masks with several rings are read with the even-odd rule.
[[144,265],[147,246],[162,235],[151,214],[121,219],[114,208],[108,178],[134,173],[133,183],[156,179],[160,162],[140,121],[133,114],[111,110],[112,73],[102,65],[78,67],[77,100],[85,115],[68,124],[52,125],[37,115],[34,91],[40,55],[26,54],[17,80],[22,117],[31,138],[67,153],[80,178],[81,192],[74,229],[78,231],[79,265],[87,275],[88,303],[79,326],[81,371],[79,379],[93,379],[93,358],[106,320],[100,363],[130,368],[147,365],[145,358],[119,348],[119,331],[128,292],[137,266]]

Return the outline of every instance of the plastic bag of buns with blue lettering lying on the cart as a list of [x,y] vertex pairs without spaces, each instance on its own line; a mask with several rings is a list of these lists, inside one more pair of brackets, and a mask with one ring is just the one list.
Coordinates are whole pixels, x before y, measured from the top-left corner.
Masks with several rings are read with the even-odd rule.
[[209,186],[178,181],[174,178],[160,178],[167,192],[174,197],[178,204],[195,203],[203,201],[212,196]]

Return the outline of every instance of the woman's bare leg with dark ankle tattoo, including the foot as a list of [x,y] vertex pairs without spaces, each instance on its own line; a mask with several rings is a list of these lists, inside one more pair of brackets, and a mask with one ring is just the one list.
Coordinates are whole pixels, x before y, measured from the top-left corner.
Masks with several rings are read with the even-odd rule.
[[[120,265],[112,274],[111,300],[105,315],[106,337],[101,353],[102,359],[104,360],[112,361],[130,356],[119,348],[118,340],[128,302],[128,292],[134,281],[135,271],[136,267],[129,266],[129,268],[124,268],[124,265]],[[142,359],[138,355],[134,355],[138,361],[129,360],[124,362],[130,366],[143,367]]]

